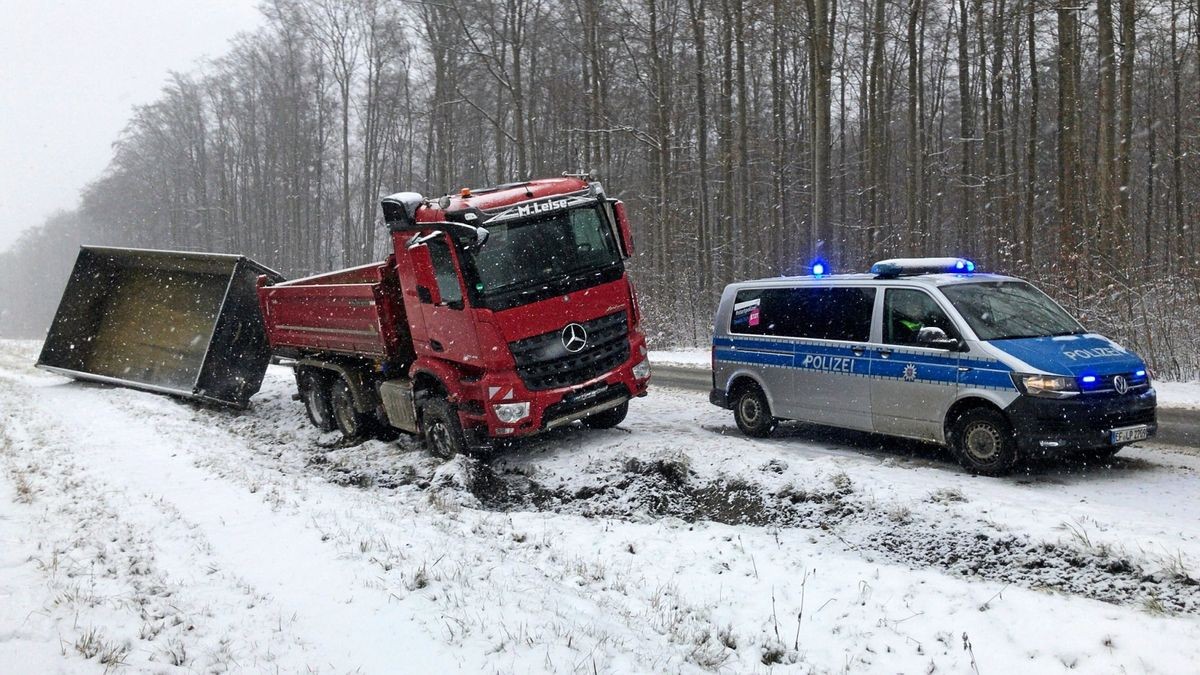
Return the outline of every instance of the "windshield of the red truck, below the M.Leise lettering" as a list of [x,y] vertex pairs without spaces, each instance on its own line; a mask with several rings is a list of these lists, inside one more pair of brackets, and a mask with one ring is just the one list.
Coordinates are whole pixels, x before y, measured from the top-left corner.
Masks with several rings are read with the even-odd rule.
[[484,297],[620,262],[617,240],[599,205],[491,223],[487,231],[487,243],[473,251],[475,289]]

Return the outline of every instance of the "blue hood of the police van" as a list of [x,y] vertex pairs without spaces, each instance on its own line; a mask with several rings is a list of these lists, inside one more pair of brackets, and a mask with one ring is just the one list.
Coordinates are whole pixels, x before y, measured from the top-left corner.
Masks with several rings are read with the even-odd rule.
[[988,344],[1052,375],[1112,375],[1146,368],[1138,354],[1094,333],[992,340]]

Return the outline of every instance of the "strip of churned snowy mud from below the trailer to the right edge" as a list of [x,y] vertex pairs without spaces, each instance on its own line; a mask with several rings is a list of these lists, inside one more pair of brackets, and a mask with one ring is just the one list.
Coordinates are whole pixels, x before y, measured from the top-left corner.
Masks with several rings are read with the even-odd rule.
[[[1027,589],[1048,589],[1147,611],[1200,614],[1200,586],[1182,566],[1135,561],[1120,551],[1068,543],[1043,543],[998,530],[986,521],[938,519],[940,509],[966,497],[935,490],[917,504],[878,503],[845,473],[779,485],[782,461],[768,461],[760,474],[702,476],[683,450],[656,456],[613,456],[572,470],[569,480],[539,462],[510,465],[458,458],[439,462],[415,442],[322,447],[302,410],[282,396],[265,401],[258,414],[221,416],[221,425],[251,441],[275,462],[354,489],[421,490],[439,500],[490,510],[541,510],[587,518],[654,521],[678,518],[757,527],[797,527],[833,537],[869,560],[912,568],[935,568]],[[216,420],[216,413],[198,413]],[[1121,458],[1121,468],[1141,470],[1141,460]],[[1046,483],[1058,477],[1019,478]],[[773,486],[768,486],[773,485]]]

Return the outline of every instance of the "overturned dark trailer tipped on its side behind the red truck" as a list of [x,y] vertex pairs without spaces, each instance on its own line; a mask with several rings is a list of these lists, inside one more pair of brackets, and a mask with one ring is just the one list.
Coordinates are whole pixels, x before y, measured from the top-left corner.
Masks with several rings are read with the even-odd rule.
[[82,246],[37,366],[245,407],[270,363],[244,256]]

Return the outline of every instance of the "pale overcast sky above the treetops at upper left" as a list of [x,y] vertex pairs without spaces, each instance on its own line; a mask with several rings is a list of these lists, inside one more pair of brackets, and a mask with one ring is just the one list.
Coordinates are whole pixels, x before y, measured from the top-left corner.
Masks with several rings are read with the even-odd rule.
[[167,72],[262,23],[257,0],[0,0],[0,250],[108,165]]

